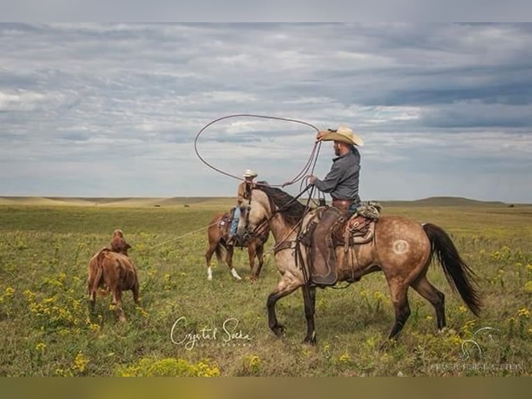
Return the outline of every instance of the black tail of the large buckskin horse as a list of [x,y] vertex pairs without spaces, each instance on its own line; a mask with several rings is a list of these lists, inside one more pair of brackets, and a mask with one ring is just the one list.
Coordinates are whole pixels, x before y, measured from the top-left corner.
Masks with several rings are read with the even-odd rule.
[[479,316],[482,303],[475,273],[460,258],[454,243],[443,229],[431,223],[423,225],[423,229],[431,241],[431,256],[438,256],[447,281],[458,291],[469,310]]

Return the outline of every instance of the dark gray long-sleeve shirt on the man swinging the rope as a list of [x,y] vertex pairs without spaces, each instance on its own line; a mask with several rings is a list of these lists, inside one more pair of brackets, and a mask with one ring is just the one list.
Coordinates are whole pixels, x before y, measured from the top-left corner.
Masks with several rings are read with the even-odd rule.
[[323,193],[330,193],[333,199],[354,199],[358,197],[358,177],[360,173],[360,153],[352,147],[347,154],[333,159],[331,170],[325,179],[316,179],[314,185]]

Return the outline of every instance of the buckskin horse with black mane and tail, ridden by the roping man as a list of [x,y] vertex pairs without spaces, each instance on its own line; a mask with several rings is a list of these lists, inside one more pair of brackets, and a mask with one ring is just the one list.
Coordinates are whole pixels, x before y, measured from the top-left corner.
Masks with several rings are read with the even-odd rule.
[[[304,218],[305,210],[303,204],[283,190],[259,185],[251,192],[249,206],[242,207],[238,228],[253,229],[268,225],[275,238],[275,261],[281,278],[267,299],[269,328],[277,336],[283,335],[284,327],[276,317],[276,302],[301,287],[307,323],[304,342],[315,343],[317,286],[306,281],[308,266],[301,263],[306,263],[307,248],[296,240],[299,222],[305,224],[310,218],[310,215]],[[300,257],[297,253],[299,250]],[[432,224],[420,225],[398,216],[381,217],[375,225],[373,243],[349,247],[347,252],[344,252],[343,246],[335,248],[338,281],[356,282],[370,272],[380,270],[384,273],[395,311],[389,339],[399,334],[410,316],[407,295],[409,287],[433,305],[438,329],[442,329],[445,327],[444,294],[426,278],[426,271],[434,254],[451,287],[458,291],[472,313],[479,316],[481,296],[475,287],[476,275],[460,259],[458,250],[447,233]]]

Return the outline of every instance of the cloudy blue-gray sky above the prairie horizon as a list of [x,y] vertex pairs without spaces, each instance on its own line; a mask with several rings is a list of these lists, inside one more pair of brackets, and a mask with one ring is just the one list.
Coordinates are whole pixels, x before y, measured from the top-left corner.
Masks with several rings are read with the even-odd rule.
[[[363,199],[532,203],[531,24],[0,24],[0,50],[0,195],[231,196],[194,138],[246,113],[352,127]],[[198,149],[281,184],[314,137],[234,117]]]

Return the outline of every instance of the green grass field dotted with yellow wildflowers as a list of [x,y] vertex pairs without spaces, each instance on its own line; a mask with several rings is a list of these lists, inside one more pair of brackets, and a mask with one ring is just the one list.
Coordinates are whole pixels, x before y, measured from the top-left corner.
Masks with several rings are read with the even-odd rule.
[[[318,343],[308,346],[301,293],[278,302],[286,336],[267,327],[278,277],[271,253],[257,282],[235,281],[226,266],[207,281],[204,227],[231,204],[0,199],[0,375],[531,375],[532,206],[387,204],[385,215],[451,234],[479,275],[481,317],[435,263],[429,279],[446,295],[449,328],[438,333],[433,308],[410,290],[412,314],[399,339],[385,341],[393,310],[374,273],[318,291]],[[127,323],[115,320],[110,297],[98,298],[92,314],[85,286],[88,260],[116,228],[133,246],[140,277],[140,306],[124,293]],[[235,265],[249,275],[247,252],[235,251]],[[476,333],[482,327],[490,329]]]

